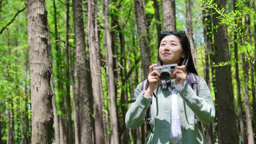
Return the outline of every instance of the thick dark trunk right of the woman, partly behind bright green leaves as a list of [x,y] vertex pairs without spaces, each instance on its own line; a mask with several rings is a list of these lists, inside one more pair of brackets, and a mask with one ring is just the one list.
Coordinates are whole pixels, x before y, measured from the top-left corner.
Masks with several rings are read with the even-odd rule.
[[[226,2],[223,0],[214,0],[214,3],[218,5],[219,9],[226,7]],[[217,17],[219,14],[213,14],[214,26],[219,24]],[[216,64],[230,60],[227,25],[222,24],[217,30],[218,32],[213,31]],[[225,89],[223,89],[223,85],[225,85]],[[216,67],[216,90],[219,144],[239,144],[230,65]]]

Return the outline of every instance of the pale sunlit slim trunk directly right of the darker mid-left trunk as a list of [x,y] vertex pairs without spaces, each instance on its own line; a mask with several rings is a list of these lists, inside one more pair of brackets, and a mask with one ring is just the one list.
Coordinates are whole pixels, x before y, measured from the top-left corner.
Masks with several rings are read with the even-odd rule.
[[[104,6],[104,5],[103,5]],[[101,79],[101,72],[98,71],[100,65],[98,62],[98,45],[96,43],[96,34],[97,27],[95,26],[95,12],[96,12],[97,3],[95,0],[88,1],[88,44],[89,44],[89,55],[90,55],[90,70],[91,70],[91,79],[92,79],[92,91],[93,91],[93,100],[94,100],[94,110],[95,110],[95,135],[96,135],[96,144],[104,144],[104,131],[103,131],[103,110],[101,104],[101,94],[100,94],[100,84],[99,80]],[[104,12],[103,12],[104,13]],[[104,18],[103,18],[104,20]],[[117,143],[116,143],[117,144]]]

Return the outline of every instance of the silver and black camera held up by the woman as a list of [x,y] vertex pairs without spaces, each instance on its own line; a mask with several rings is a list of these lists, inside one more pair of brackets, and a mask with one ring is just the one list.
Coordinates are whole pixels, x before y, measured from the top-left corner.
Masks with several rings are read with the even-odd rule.
[[174,85],[176,84],[176,79],[171,79],[171,75],[172,75],[172,72],[174,72],[177,69],[176,66],[177,64],[168,64],[168,65],[153,67],[153,70],[157,70],[158,72],[160,72],[162,89],[166,89],[168,88],[168,86],[170,86],[171,88],[174,88]]

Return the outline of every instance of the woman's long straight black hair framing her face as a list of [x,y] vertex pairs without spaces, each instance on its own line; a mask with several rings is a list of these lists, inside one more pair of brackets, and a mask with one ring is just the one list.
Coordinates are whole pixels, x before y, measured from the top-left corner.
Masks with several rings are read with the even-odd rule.
[[195,70],[195,65],[194,65],[194,61],[192,58],[192,54],[191,54],[190,42],[189,42],[187,36],[185,35],[185,33],[181,33],[181,34],[169,33],[169,34],[164,34],[160,37],[160,39],[158,41],[158,66],[163,65],[163,61],[161,61],[159,58],[160,43],[165,36],[169,36],[169,35],[174,35],[180,40],[180,43],[182,44],[182,50],[185,54],[185,58],[182,58],[180,63],[177,63],[177,64],[179,66],[185,65],[186,73],[188,73],[188,74],[194,73],[194,74],[198,75]]

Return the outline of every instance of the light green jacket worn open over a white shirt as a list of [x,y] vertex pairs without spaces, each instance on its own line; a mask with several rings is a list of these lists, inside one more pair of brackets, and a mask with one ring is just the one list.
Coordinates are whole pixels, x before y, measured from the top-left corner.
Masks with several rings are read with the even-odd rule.
[[[196,79],[198,96],[187,83],[184,84],[182,91],[177,91],[183,144],[207,144],[199,121],[208,124],[215,117],[214,104],[208,85],[200,76],[196,76]],[[137,129],[144,123],[144,115],[151,101],[151,98],[142,95],[141,86],[142,83],[137,85],[134,92],[136,101],[131,104],[125,116],[125,123],[131,129]],[[160,88],[158,97],[152,96],[151,130],[147,135],[145,144],[169,144],[170,125],[171,92],[169,89]]]

